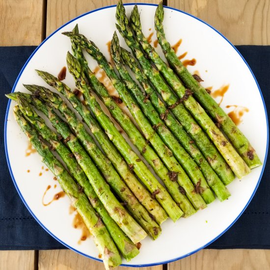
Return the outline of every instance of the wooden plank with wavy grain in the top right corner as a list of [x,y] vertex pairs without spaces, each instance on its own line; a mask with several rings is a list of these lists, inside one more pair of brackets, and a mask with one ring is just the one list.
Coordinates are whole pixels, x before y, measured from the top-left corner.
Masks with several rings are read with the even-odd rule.
[[235,45],[270,45],[270,0],[167,0],[215,27]]

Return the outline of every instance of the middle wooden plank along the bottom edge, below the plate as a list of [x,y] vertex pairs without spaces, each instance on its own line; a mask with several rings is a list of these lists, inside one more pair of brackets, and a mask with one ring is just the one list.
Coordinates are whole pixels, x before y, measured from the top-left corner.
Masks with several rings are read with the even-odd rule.
[[[40,250],[38,260],[39,270],[104,270],[103,263],[86,258],[72,250]],[[128,267],[118,267],[117,270],[130,270]],[[162,266],[136,268],[136,270],[162,270]]]

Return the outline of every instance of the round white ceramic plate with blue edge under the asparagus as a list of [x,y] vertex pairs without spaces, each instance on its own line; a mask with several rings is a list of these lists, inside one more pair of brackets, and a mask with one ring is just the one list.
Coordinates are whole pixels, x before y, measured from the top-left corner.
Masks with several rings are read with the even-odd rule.
[[[132,4],[126,5],[128,16],[132,8]],[[149,36],[155,32],[156,6],[139,4],[138,9],[143,32]],[[107,43],[115,31],[115,10],[115,6],[109,6],[91,11],[56,30],[27,60],[13,91],[26,91],[22,86],[23,83],[48,87],[34,70],[45,70],[57,76],[60,69],[66,65],[67,52],[71,51],[69,38],[63,36],[61,32],[71,31],[76,24],[79,24],[80,32],[94,41],[109,59]],[[216,200],[207,209],[187,219],[181,218],[175,223],[171,220],[164,222],[162,235],[155,242],[149,237],[146,238],[142,241],[137,257],[131,262],[123,260],[123,264],[127,266],[151,266],[171,262],[215,241],[232,226],[254,195],[262,176],[268,148],[268,122],[263,97],[241,54],[213,27],[197,18],[169,7],[164,8],[164,13],[164,29],[168,41],[175,44],[182,39],[177,54],[188,52],[184,60],[196,59],[196,64],[188,67],[189,71],[192,74],[199,72],[204,80],[202,84],[205,87],[213,87],[212,91],[229,85],[221,107],[227,112],[234,111],[232,113],[236,116],[240,110],[244,111],[243,115],[241,113],[238,115],[242,115],[239,128],[256,149],[263,166],[253,169],[241,181],[235,179],[228,186],[231,192],[228,200],[222,203]],[[119,34],[118,36],[120,37]],[[155,33],[151,39],[152,44],[155,44]],[[120,43],[122,46],[125,45],[122,38]],[[159,46],[157,51],[163,57]],[[94,69],[97,63],[88,56],[87,59],[90,67]],[[70,74],[67,74],[64,82],[75,88]],[[217,97],[217,100],[220,101],[220,98]],[[80,241],[81,231],[72,226],[75,213],[69,213],[70,202],[66,196],[46,207],[42,204],[42,197],[49,185],[52,188],[44,196],[45,203],[61,189],[53,180],[53,174],[42,167],[41,159],[36,153],[26,157],[28,141],[14,120],[12,114],[14,105],[15,102],[10,102],[7,107],[5,149],[10,173],[21,198],[40,225],[55,239],[80,254],[100,260],[91,237],[86,241]],[[240,107],[227,108],[232,105]]]

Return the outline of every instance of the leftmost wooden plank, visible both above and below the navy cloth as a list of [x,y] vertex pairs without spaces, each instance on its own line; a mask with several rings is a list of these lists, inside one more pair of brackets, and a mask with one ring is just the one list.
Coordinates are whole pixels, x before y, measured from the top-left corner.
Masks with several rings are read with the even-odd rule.
[[[0,46],[41,42],[43,0],[0,1]],[[34,250],[0,251],[0,269],[33,270]]]

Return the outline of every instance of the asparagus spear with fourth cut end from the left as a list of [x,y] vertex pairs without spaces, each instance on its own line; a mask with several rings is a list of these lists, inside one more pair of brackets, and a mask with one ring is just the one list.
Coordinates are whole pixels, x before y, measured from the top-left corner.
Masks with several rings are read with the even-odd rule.
[[[75,113],[67,107],[67,104],[56,93],[51,92],[49,89],[36,85],[25,85],[25,87],[33,93],[38,93],[42,100],[49,103],[52,107],[58,109],[61,112],[61,114],[66,118],[68,124],[74,130],[75,134],[83,144],[90,157],[103,173],[105,179],[108,181],[108,184],[124,201],[124,204],[133,214],[137,222],[140,223],[144,230],[153,239],[156,239],[161,233],[161,228],[154,220],[152,220],[152,218],[148,215],[148,212],[137,201],[134,194],[116,173],[111,163],[95,144],[93,138],[87,133],[84,126],[77,119]],[[129,215],[127,212],[126,214]],[[131,220],[130,222],[135,223],[135,220],[131,219],[131,216],[129,218]]]

